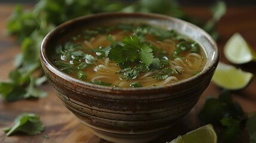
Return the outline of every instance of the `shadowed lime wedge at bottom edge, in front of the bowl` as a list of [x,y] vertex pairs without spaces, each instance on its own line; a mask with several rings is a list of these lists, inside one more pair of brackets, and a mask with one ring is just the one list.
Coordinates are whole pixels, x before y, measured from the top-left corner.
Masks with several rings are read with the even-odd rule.
[[212,125],[205,125],[201,128],[192,130],[186,135],[178,136],[174,140],[169,143],[190,143],[190,142],[197,142],[197,143],[216,143],[217,142],[217,135],[215,130],[212,128]]

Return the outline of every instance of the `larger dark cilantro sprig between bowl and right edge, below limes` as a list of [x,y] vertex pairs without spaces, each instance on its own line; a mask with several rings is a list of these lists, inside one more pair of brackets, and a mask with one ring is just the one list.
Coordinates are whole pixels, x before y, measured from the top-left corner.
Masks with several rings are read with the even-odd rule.
[[220,134],[224,142],[237,141],[241,123],[246,118],[241,105],[232,100],[230,91],[226,89],[220,92],[218,98],[208,98],[199,112],[199,119],[203,122],[224,126],[224,133]]

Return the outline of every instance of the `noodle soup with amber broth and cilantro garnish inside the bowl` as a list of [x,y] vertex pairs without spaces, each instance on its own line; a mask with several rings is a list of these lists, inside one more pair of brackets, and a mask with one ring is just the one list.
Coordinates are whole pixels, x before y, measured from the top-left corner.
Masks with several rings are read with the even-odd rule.
[[206,61],[197,42],[147,24],[70,33],[55,45],[53,60],[72,77],[117,88],[169,85],[200,73]]

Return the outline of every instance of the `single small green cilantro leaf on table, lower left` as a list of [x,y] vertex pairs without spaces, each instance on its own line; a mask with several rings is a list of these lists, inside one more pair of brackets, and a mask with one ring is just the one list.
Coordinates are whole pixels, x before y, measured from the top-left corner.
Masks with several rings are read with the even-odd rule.
[[40,116],[33,113],[22,113],[14,120],[14,126],[5,128],[7,136],[16,132],[24,132],[28,135],[37,135],[45,129],[40,121]]

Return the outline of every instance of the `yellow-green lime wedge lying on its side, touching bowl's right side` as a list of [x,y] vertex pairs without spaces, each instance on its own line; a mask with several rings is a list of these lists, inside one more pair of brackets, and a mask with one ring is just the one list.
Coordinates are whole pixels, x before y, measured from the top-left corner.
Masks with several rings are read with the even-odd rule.
[[212,77],[212,82],[221,88],[236,90],[245,88],[252,77],[252,73],[236,69],[234,66],[220,62]]

